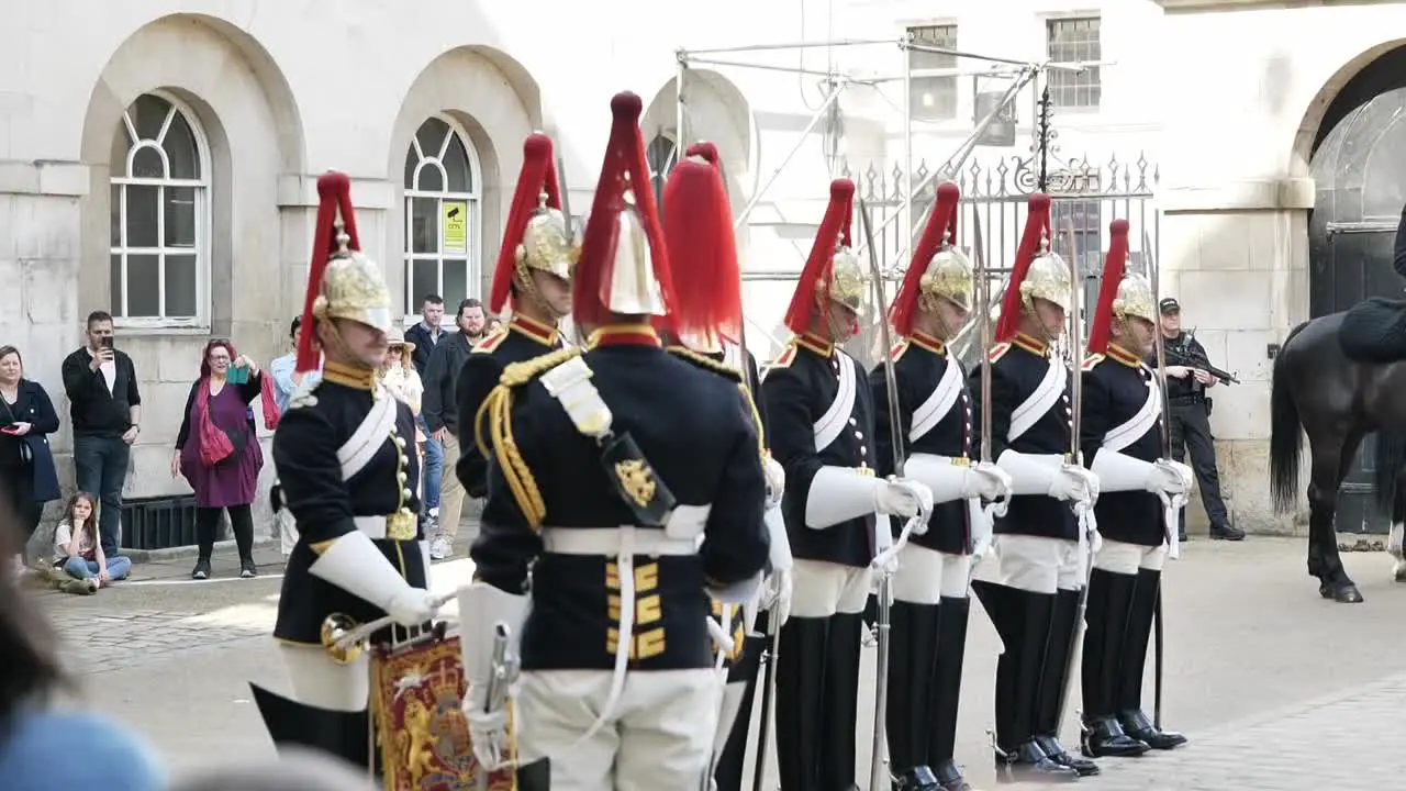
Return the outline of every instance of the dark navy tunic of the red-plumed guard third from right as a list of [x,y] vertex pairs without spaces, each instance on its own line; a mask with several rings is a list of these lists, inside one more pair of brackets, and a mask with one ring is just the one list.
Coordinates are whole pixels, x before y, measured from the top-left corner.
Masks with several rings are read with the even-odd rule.
[[[972,391],[967,388],[962,363],[948,355],[941,341],[915,334],[894,346],[893,352],[894,376],[898,383],[898,429],[903,432],[900,445],[904,457],[914,453],[928,453],[932,456],[972,457]],[[946,373],[948,366],[957,366],[962,390],[956,401],[935,426],[920,436],[917,442],[910,442],[912,432],[912,415],[932,397]],[[889,374],[883,365],[875,366],[869,372],[869,386],[875,400],[875,446],[880,476],[891,476],[893,470],[893,429],[889,417]],[[980,441],[980,439],[977,439]],[[932,519],[928,522],[928,532],[912,536],[910,540],[918,546],[925,546],[948,555],[966,555],[972,552],[970,510],[966,500],[939,502],[932,510]],[[898,538],[903,524],[893,522],[894,538]]]

